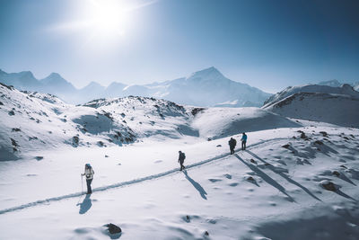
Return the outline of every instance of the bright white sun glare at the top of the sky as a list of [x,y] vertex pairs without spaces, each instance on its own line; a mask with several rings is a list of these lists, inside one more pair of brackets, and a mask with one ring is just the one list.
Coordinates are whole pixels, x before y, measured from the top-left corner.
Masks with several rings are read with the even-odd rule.
[[[77,0],[66,20],[51,26],[51,31],[70,34],[79,49],[111,49],[136,35],[140,9],[158,0]],[[93,48],[93,47],[96,48]]]

